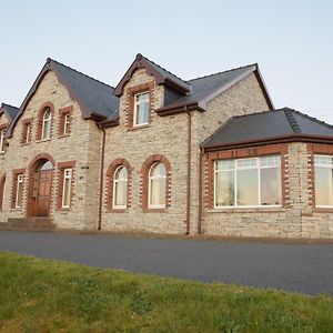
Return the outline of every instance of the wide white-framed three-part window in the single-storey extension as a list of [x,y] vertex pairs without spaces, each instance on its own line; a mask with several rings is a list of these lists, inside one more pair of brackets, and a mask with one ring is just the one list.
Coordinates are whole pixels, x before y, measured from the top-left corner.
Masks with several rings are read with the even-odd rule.
[[214,206],[281,205],[281,157],[214,162]]

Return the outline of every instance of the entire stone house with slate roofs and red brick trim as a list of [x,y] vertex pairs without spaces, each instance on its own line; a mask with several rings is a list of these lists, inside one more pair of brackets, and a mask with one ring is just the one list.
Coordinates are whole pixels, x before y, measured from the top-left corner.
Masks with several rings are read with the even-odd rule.
[[333,238],[333,128],[274,110],[258,64],[138,54],[112,88],[48,59],[0,133],[2,226]]

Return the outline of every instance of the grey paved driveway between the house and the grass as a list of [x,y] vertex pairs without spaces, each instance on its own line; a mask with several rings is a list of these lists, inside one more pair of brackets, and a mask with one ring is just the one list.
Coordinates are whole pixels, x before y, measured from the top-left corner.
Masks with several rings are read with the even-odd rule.
[[93,266],[333,295],[333,245],[0,231],[0,251]]

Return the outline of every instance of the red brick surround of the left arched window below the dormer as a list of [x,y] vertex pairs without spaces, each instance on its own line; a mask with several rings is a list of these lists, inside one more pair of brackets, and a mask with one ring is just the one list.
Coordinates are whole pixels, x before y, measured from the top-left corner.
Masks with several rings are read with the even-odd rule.
[[119,167],[124,167],[128,170],[128,199],[127,199],[127,208],[129,209],[132,204],[132,168],[128,160],[125,159],[117,159],[114,160],[108,168],[107,171],[107,193],[105,193],[105,206],[109,211],[121,211],[113,210],[113,176],[114,172]]

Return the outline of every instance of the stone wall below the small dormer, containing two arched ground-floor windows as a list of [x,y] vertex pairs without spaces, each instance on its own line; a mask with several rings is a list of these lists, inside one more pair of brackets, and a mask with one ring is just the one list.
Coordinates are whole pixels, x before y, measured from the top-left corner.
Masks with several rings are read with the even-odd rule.
[[[186,114],[159,117],[153,110],[151,123],[142,128],[128,125],[129,95],[127,90],[153,82],[153,109],[163,105],[163,85],[155,85],[154,78],[140,69],[133,73],[124,87],[120,102],[119,127],[107,129],[107,147],[104,161],[104,191],[102,230],[113,231],[145,231],[157,233],[185,233],[186,210]],[[168,159],[171,165],[171,201],[162,212],[160,210],[144,210],[141,206],[141,168],[144,161],[153,154]],[[107,208],[107,172],[110,164],[125,159],[132,169],[131,205],[127,210],[117,212]]]

